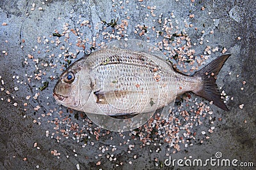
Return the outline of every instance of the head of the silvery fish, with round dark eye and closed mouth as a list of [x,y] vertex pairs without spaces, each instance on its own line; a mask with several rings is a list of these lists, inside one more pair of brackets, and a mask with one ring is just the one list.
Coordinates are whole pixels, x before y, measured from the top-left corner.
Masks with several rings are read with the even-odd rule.
[[53,96],[58,103],[74,110],[79,110],[79,108],[81,108],[79,81],[81,80],[81,69],[83,68],[83,63],[83,60],[77,60],[70,65],[61,74],[53,90]]

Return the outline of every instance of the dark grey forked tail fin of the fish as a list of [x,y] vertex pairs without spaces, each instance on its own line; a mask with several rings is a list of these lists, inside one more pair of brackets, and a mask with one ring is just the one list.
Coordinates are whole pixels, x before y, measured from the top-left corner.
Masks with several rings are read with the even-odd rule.
[[214,105],[225,111],[229,110],[221,100],[221,94],[216,85],[216,76],[229,56],[230,54],[221,55],[207,66],[200,69],[200,71],[195,73],[195,76],[202,80],[202,85],[199,90],[193,91],[196,95],[204,97],[208,101],[212,101]]

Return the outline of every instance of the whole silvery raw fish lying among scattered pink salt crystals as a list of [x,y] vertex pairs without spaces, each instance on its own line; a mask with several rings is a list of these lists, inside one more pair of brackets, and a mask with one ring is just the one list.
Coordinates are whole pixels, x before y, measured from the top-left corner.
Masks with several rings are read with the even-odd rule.
[[228,57],[221,55],[190,76],[154,53],[104,48],[71,64],[60,75],[53,96],[63,106],[85,113],[132,115],[154,112],[193,92],[228,111],[216,85]]

